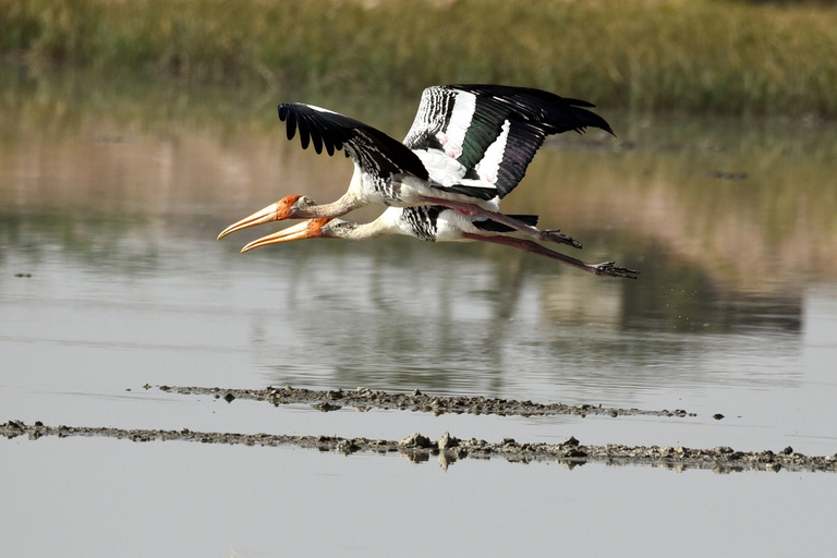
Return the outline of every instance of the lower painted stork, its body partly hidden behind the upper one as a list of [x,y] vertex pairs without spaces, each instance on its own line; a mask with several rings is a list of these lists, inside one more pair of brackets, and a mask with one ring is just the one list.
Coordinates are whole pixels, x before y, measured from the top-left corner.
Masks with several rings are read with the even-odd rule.
[[[527,225],[537,223],[537,216],[510,216]],[[502,234],[514,229],[489,219],[466,216],[441,206],[390,207],[380,217],[365,225],[350,223],[340,219],[308,219],[279,232],[268,234],[244,246],[247,252],[259,246],[304,239],[366,240],[384,234],[405,234],[429,242],[484,241],[535,253],[568,264],[593,275],[636,279],[639,271],[617,267],[614,262],[587,264],[560,252],[551,251],[537,242]]]

